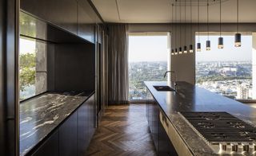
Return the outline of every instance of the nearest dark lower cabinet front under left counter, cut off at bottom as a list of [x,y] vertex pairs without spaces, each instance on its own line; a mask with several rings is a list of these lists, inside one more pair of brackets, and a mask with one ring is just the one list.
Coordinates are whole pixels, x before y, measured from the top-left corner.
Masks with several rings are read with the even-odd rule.
[[33,156],[58,156],[58,131],[54,132],[53,135],[50,135],[50,138],[46,141],[32,154]]

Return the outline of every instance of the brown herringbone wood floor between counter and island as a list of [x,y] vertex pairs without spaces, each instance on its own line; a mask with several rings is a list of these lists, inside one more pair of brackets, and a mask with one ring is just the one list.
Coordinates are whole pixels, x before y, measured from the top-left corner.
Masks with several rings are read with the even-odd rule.
[[146,121],[146,104],[108,107],[86,155],[156,155]]

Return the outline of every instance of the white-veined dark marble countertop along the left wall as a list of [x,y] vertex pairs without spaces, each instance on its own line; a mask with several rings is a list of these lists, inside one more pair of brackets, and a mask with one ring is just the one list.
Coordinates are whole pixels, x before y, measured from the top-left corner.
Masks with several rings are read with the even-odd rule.
[[20,103],[20,155],[25,155],[93,92],[46,92]]

